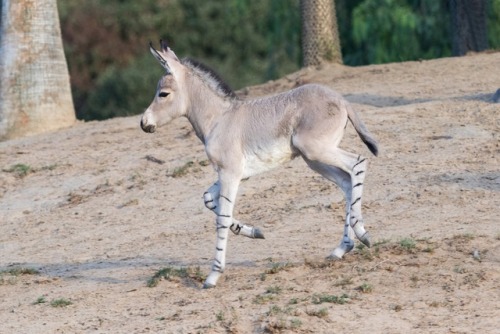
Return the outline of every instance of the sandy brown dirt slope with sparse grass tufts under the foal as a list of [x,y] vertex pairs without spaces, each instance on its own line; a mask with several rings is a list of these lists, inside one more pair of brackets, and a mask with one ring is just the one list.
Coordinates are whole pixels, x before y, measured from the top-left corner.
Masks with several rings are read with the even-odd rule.
[[79,123],[0,143],[0,333],[500,333],[500,53],[325,65],[240,94],[307,82],[379,140],[375,158],[349,126],[341,145],[370,157],[371,249],[325,260],[343,198],[297,159],[242,183],[235,216],[266,239],[231,235],[203,290],[216,175],[189,123]]

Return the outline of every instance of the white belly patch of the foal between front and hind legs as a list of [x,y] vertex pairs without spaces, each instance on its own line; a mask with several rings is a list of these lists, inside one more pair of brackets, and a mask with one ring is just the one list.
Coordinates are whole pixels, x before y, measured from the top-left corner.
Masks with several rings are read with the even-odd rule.
[[274,169],[297,156],[289,141],[276,142],[265,148],[248,150],[245,154],[243,179]]

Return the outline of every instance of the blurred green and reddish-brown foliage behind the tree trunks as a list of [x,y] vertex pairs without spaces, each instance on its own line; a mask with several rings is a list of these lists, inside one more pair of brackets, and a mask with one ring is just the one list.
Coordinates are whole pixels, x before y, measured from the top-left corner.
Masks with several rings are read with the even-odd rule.
[[[143,112],[162,69],[149,41],[216,69],[235,89],[301,66],[299,0],[58,2],[79,119]],[[500,0],[488,5],[500,48]],[[343,60],[356,66],[451,56],[448,1],[336,0]]]

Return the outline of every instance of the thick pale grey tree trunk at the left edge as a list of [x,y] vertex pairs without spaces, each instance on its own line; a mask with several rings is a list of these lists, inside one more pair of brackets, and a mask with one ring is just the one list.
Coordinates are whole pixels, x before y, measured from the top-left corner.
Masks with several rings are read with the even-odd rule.
[[74,124],[56,0],[0,1],[0,140]]

